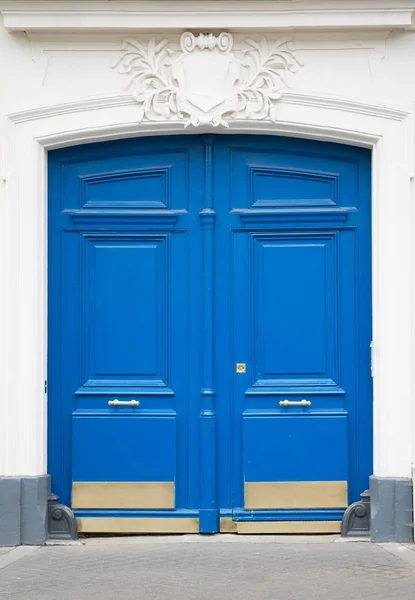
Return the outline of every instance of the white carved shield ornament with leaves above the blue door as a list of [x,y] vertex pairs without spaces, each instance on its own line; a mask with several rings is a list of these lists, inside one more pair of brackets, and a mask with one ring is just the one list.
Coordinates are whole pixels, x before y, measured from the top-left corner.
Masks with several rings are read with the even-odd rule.
[[233,51],[230,33],[183,33],[181,52],[168,40],[126,39],[112,67],[130,78],[139,122],[183,120],[184,126],[222,125],[230,119],[275,121],[284,75],[301,66],[291,38],[246,39]]

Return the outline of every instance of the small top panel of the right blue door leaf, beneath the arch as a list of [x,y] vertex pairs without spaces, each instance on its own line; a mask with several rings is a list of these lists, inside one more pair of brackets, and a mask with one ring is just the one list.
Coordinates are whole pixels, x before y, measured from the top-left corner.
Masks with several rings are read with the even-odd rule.
[[367,156],[366,150],[348,152],[305,140],[256,140],[231,149],[233,208],[358,207],[358,194],[351,188],[358,182],[359,154]]

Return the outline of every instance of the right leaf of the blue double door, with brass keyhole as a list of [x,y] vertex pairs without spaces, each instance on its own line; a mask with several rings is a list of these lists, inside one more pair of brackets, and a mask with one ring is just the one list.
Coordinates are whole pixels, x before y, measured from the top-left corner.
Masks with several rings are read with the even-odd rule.
[[[221,137],[215,161],[216,312],[221,341],[231,339],[217,347],[217,406],[232,422],[231,443],[219,436],[221,476],[233,482],[220,504],[230,495],[244,518],[247,482],[310,481],[341,484],[353,502],[372,468],[370,153]],[[339,518],[344,498],[318,518]],[[312,518],[306,506],[295,518]],[[274,508],[266,518],[293,518]]]

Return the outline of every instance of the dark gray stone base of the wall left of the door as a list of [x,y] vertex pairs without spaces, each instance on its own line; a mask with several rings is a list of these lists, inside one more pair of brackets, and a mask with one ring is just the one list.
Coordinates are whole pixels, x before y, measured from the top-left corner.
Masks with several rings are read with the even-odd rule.
[[0,477],[0,546],[45,543],[49,489],[49,475]]

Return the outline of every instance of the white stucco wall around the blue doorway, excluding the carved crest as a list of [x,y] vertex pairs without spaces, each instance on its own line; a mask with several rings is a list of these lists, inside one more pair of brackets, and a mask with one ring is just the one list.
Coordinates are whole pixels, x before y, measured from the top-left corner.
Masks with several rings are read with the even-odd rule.
[[[0,2],[0,9],[19,4]],[[59,3],[31,4],[46,11]],[[43,13],[43,21],[36,11],[31,21],[27,11],[16,17],[6,10],[4,18],[13,31],[0,29],[0,474],[4,475],[46,471],[46,150],[123,135],[183,131],[180,121],[137,123],[138,108],[127,90],[128,77],[111,68],[125,37],[143,42],[168,38],[171,47],[178,48],[184,27],[175,25],[175,16],[168,21],[168,14],[161,12],[160,21],[157,15],[145,21],[145,31],[140,30],[144,21],[139,17],[128,27],[120,21],[121,31],[117,30],[120,17],[107,19],[97,9],[100,3],[72,4],[95,9],[94,22],[102,24],[101,31],[88,25],[88,20],[86,29],[82,21],[77,25],[75,9],[65,17],[72,19],[68,23],[53,10]],[[137,7],[143,3],[111,4]],[[415,463],[415,324],[411,319],[415,309],[415,30],[405,19],[415,3],[389,2],[396,8],[409,7],[406,16],[403,12],[396,16],[397,23],[401,19],[398,29],[385,28],[382,11],[375,12],[377,6],[386,6],[386,0],[362,0],[357,3],[359,10],[366,5],[373,9],[365,18],[379,23],[375,29],[364,25],[361,10],[354,16],[338,11],[331,17],[328,11],[325,17],[320,7],[320,29],[317,17],[307,13],[317,30],[302,17],[300,29],[288,34],[275,27],[267,30],[271,21],[265,13],[259,20],[259,4],[291,6],[294,19],[299,6],[312,10],[333,2],[251,2],[254,30],[223,27],[232,30],[236,50],[247,37],[265,35],[272,42],[288,35],[304,65],[287,78],[291,87],[278,103],[275,123],[238,120],[231,122],[230,131],[309,136],[374,148],[374,472],[410,477]],[[348,3],[338,1],[336,6],[340,4]],[[244,3],[245,8],[248,5]],[[190,9],[188,13],[182,15],[183,25],[193,24],[193,31],[209,31],[209,23],[220,22],[192,16]],[[223,17],[225,24],[232,24],[232,14],[239,15],[236,5]],[[218,6],[212,6],[212,15],[220,17]],[[393,21],[392,17],[391,12]],[[151,23],[154,27],[161,23],[156,27],[160,30],[169,22],[168,31],[151,32]],[[249,22],[248,14],[244,27]],[[338,30],[339,23],[347,31]]]

